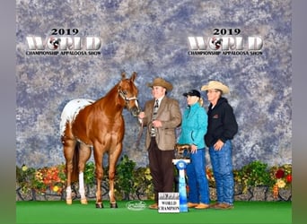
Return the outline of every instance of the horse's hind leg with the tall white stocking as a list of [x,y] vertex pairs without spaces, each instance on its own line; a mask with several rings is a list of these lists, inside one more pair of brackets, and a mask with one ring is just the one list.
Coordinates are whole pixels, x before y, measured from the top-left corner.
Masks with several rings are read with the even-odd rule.
[[90,157],[91,157],[91,148],[89,146],[81,143],[78,168],[79,168],[79,193],[80,193],[80,196],[81,196],[80,202],[82,204],[87,204],[87,199],[86,199],[86,196],[85,196],[83,172],[84,172],[84,169],[85,169],[86,161],[88,159],[90,159]]

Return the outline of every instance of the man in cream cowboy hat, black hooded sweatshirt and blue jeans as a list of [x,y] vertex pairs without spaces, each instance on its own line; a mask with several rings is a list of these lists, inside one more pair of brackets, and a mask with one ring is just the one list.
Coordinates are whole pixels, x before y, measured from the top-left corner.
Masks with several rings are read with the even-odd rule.
[[202,86],[210,102],[208,126],[205,135],[215,176],[217,202],[215,209],[232,209],[234,180],[232,173],[232,138],[238,132],[238,124],[228,100],[223,97],[229,88],[222,82],[210,81]]

